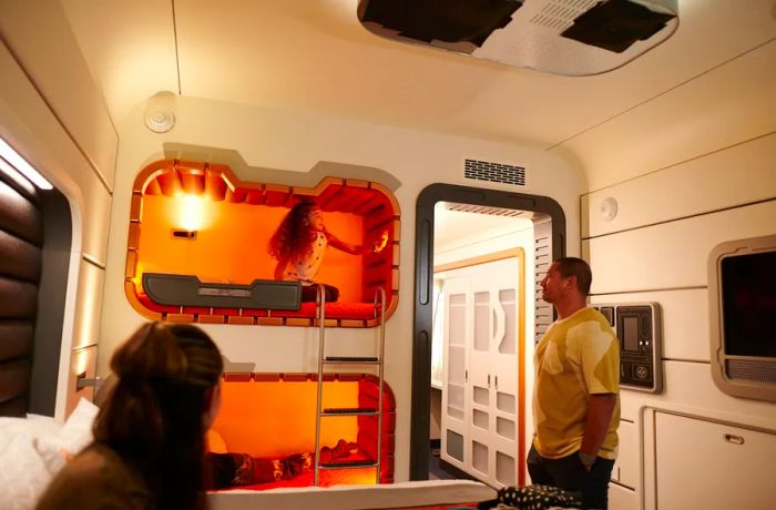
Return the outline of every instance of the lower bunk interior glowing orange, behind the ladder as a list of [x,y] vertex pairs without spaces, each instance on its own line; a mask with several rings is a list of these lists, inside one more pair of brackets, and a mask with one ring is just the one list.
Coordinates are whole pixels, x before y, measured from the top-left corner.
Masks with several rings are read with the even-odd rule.
[[[257,458],[279,458],[315,451],[317,374],[226,374],[222,405],[211,432],[213,452],[248,453]],[[384,382],[380,483],[394,481],[396,400]],[[377,409],[378,379],[365,374],[327,374],[324,377],[324,408]],[[343,416],[326,421],[320,446],[334,447],[345,440],[357,445],[340,462],[377,459],[377,417]],[[375,467],[320,470],[319,486],[369,484]],[[314,484],[313,471],[290,480],[235,487],[272,489]]]

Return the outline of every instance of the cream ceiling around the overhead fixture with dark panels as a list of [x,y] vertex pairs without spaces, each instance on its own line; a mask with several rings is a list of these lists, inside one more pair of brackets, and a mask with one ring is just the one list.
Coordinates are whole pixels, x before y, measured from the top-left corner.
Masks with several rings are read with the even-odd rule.
[[[735,94],[721,91],[721,83],[739,63],[744,70],[735,75],[758,83],[742,101],[765,104],[727,128],[741,137],[748,126],[768,130],[776,122],[773,0],[680,0],[680,27],[666,42],[621,69],[585,78],[381,39],[359,24],[357,0],[61,2],[116,124],[134,105],[169,90],[569,150],[589,172],[605,173],[616,165],[605,159],[613,142],[637,149],[644,133],[658,136],[666,122],[685,125],[687,115],[697,119],[715,108],[715,94]],[[693,104],[698,94],[704,101]],[[655,105],[658,118],[645,105]],[[637,120],[635,131],[623,119]],[[612,140],[617,133],[632,140]],[[728,139],[715,143],[733,143]],[[666,143],[655,149],[682,156]]]

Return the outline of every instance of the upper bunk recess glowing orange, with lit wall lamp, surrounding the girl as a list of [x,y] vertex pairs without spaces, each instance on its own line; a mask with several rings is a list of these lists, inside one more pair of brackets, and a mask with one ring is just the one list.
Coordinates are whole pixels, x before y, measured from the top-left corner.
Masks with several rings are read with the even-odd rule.
[[[339,177],[315,187],[244,182],[226,165],[178,160],[151,163],[135,178],[124,275],[129,302],[161,320],[315,325],[307,283],[289,282],[287,269],[278,276],[284,272],[276,271],[269,249],[299,203],[314,204],[328,237],[313,278],[338,289],[336,300],[327,296],[326,326],[376,326],[379,287],[390,317],[399,293],[400,215],[387,187]],[[349,249],[337,249],[343,244]]]

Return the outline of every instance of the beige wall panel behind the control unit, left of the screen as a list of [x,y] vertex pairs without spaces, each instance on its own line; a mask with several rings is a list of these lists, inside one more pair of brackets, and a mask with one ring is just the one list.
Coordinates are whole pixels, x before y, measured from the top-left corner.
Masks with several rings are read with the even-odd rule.
[[[598,276],[593,274],[594,278]],[[663,358],[708,361],[708,293],[705,288],[591,296],[596,303],[656,302],[662,312]]]

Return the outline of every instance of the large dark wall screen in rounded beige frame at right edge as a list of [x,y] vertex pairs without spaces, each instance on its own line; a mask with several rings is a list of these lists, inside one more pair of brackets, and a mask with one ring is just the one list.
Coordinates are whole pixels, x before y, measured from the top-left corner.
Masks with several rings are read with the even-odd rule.
[[776,401],[776,235],[717,245],[708,261],[712,375],[736,397]]

